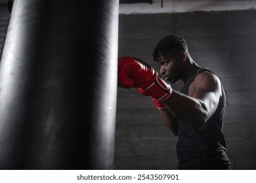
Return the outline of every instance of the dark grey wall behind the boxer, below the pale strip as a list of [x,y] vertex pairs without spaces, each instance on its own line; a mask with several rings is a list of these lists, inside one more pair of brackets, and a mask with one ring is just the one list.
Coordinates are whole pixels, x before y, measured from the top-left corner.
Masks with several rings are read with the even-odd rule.
[[[165,35],[186,39],[192,58],[217,73],[227,95],[224,135],[232,169],[256,169],[256,10],[119,15],[119,56],[150,63]],[[172,85],[180,90],[182,83]],[[177,169],[177,137],[150,97],[118,88],[115,169]]]

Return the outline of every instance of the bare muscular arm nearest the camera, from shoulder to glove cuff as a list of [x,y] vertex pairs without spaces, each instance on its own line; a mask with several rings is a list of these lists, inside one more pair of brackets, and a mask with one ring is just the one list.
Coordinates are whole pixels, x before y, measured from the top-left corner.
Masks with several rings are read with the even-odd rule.
[[190,85],[188,95],[173,91],[163,101],[171,114],[194,125],[203,125],[215,112],[221,97],[221,82],[213,73],[203,72]]

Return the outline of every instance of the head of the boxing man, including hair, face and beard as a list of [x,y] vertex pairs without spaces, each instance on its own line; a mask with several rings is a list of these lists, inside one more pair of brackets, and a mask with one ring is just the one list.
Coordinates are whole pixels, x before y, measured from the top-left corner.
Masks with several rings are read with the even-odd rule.
[[184,78],[187,60],[190,59],[186,41],[178,35],[161,39],[153,51],[153,59],[160,66],[160,74],[173,83]]

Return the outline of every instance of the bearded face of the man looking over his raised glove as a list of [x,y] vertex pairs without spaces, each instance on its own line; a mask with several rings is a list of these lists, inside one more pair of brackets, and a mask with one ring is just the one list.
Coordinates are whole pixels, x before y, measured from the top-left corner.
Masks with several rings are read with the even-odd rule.
[[158,65],[161,76],[171,83],[180,80],[182,75],[181,62],[181,59],[178,56],[173,56],[173,54],[169,54],[167,58],[159,59]]

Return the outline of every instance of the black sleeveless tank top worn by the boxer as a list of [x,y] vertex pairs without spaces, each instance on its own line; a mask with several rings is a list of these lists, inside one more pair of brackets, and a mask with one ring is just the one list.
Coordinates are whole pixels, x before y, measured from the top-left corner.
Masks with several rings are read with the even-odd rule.
[[[198,74],[204,71],[213,73],[206,68],[200,69],[184,84],[181,93],[188,95],[190,84]],[[223,86],[221,88],[222,97],[219,100],[219,105],[205,124],[196,126],[179,120],[179,141],[177,143],[179,169],[218,169],[218,166],[221,169],[223,165],[230,165],[223,135],[226,95]]]

